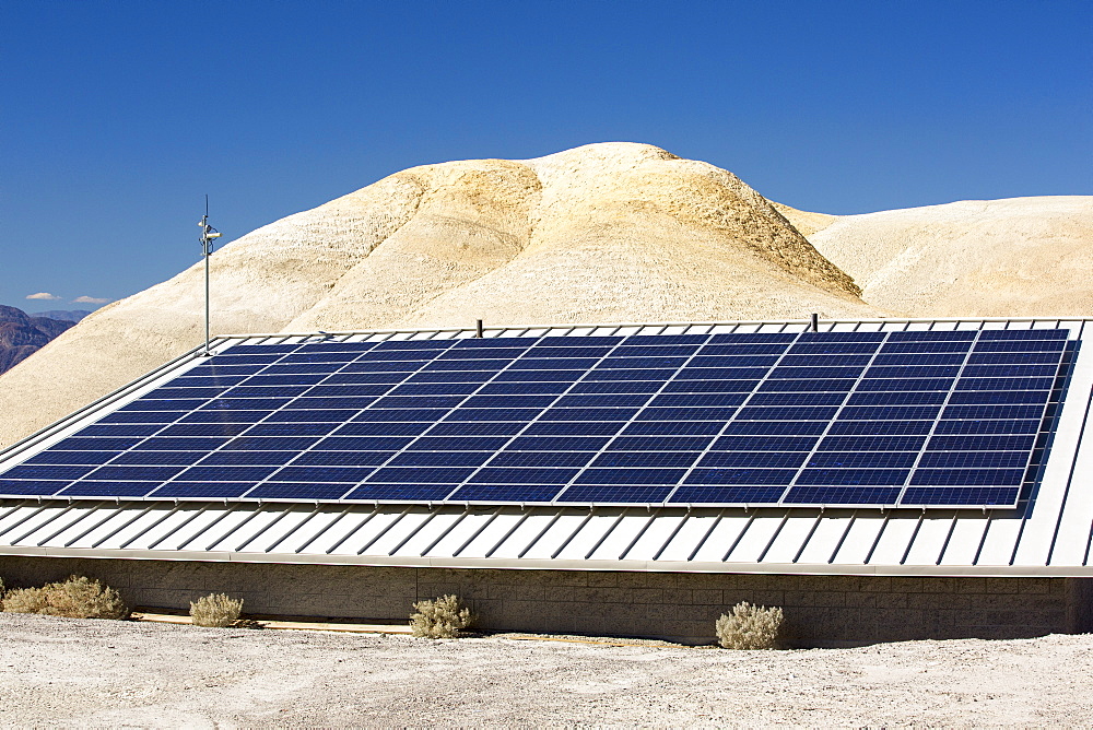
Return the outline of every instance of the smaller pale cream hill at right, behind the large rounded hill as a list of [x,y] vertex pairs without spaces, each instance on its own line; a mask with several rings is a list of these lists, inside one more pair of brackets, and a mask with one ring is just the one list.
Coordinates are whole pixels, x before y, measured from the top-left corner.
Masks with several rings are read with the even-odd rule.
[[1093,197],[846,215],[809,240],[866,302],[915,317],[1093,315]]

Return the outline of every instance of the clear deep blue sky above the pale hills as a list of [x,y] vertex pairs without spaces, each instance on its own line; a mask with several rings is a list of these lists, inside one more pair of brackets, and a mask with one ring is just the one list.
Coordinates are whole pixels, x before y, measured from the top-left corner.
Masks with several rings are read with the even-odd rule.
[[[649,142],[831,213],[1093,193],[1093,3],[0,4],[0,304],[412,165]],[[48,292],[56,301],[26,299]]]

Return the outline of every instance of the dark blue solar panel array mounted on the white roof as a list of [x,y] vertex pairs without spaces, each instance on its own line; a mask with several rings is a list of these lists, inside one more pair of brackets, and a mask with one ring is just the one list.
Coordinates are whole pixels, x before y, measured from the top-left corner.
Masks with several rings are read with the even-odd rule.
[[1068,330],[233,346],[10,496],[1012,506]]

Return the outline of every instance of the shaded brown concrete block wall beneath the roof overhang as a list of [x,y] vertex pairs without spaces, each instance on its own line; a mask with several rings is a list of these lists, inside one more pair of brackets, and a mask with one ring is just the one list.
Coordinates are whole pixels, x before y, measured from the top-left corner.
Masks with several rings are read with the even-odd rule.
[[1089,631],[1090,579],[502,570],[0,557],[9,586],[99,578],[133,605],[186,609],[210,592],[252,614],[407,621],[460,596],[493,631],[650,636],[705,644],[740,601],[780,605],[787,646],[1020,638]]

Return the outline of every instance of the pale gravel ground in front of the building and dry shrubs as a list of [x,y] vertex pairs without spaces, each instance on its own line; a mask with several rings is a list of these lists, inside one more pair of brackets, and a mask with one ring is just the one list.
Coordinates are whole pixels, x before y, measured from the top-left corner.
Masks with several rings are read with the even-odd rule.
[[0,613],[2,726],[1093,725],[1093,636],[722,651]]

